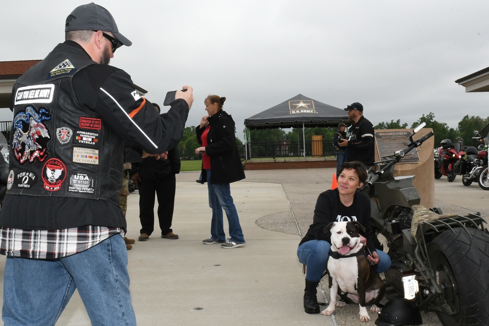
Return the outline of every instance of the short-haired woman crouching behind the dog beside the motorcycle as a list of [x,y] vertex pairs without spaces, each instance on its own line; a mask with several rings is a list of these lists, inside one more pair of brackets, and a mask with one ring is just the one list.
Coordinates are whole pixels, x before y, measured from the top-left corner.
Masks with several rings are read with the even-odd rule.
[[323,229],[330,222],[358,221],[366,229],[365,233],[360,232],[360,236],[365,238],[362,242],[366,241],[372,253],[368,258],[377,264],[377,271],[384,272],[391,265],[389,256],[376,250],[370,235],[370,199],[357,191],[366,179],[367,171],[361,162],[345,162],[340,167],[338,188],[327,190],[317,198],[312,224],[297,249],[299,261],[307,266],[304,290],[304,310],[307,313],[319,313],[316,287],[326,269],[331,247],[331,233],[325,234]]

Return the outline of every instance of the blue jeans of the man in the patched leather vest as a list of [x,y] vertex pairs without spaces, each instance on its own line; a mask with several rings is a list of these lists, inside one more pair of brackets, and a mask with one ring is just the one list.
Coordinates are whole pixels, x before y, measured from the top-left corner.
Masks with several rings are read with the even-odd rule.
[[92,325],[136,325],[126,244],[122,236],[115,235],[57,260],[7,257],[2,309],[5,326],[54,325],[75,288]]

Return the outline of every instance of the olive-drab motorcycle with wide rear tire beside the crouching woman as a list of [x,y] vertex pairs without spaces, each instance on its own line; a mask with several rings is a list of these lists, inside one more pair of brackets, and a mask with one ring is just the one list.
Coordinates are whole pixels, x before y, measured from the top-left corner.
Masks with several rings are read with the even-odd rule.
[[[382,157],[362,192],[371,202],[374,232],[386,239],[392,266],[384,273],[391,297],[435,311],[444,326],[489,325],[489,232],[480,214],[442,214],[420,205],[414,176],[394,177],[394,167],[433,132],[403,151]],[[380,248],[383,246],[378,243]]]

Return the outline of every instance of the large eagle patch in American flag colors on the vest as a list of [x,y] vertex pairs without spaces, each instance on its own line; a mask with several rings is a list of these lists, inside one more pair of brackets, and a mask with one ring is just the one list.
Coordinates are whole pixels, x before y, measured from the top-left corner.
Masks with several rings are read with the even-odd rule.
[[43,162],[47,157],[47,142],[51,137],[43,121],[49,119],[51,113],[45,107],[37,111],[29,106],[16,114],[12,121],[15,129],[12,147],[15,158],[19,162],[32,163],[36,158],[39,162]]

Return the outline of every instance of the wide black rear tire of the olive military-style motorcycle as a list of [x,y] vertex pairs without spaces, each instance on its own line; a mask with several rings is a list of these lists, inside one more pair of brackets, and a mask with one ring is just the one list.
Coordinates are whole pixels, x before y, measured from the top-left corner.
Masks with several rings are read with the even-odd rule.
[[453,312],[437,312],[444,326],[489,325],[489,235],[473,228],[455,228],[438,235],[428,257],[442,295],[433,304]]

